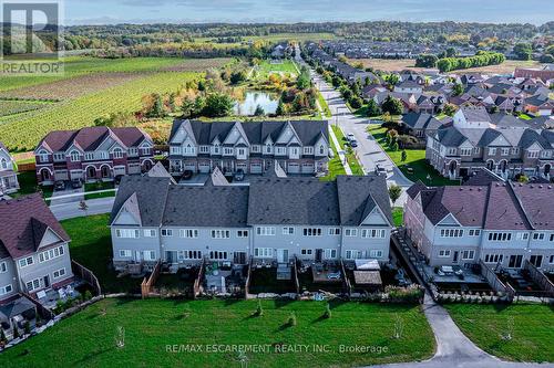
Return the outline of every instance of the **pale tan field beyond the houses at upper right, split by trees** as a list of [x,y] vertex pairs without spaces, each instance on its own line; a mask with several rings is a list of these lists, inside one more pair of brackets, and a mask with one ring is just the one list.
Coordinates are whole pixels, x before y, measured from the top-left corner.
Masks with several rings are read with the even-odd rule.
[[[412,71],[421,72],[425,70],[425,67],[416,67],[416,60],[413,59],[398,59],[398,60],[386,60],[386,59],[349,59],[348,62],[351,65],[356,65],[358,63],[362,63],[363,67],[372,67],[375,70],[383,71],[383,72],[400,72],[404,69],[410,69]],[[507,60],[500,65],[489,65],[481,67],[472,67],[465,69],[463,71],[453,71],[453,73],[489,73],[489,74],[511,74],[515,71],[516,67],[536,67],[541,64],[534,61],[517,61],[517,60]]]

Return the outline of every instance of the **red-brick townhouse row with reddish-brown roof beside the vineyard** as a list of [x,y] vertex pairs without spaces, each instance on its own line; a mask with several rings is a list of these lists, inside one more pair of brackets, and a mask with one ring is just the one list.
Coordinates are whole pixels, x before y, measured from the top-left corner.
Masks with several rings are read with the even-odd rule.
[[154,166],[151,137],[136,127],[89,127],[48,134],[34,150],[41,185],[59,180],[113,180]]

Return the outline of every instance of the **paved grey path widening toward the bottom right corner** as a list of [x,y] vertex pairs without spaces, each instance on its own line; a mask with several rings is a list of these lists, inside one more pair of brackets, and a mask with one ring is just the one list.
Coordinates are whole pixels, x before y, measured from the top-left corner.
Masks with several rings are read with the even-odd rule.
[[435,355],[425,361],[373,366],[381,368],[513,368],[554,367],[553,364],[502,361],[478,348],[454,324],[448,312],[425,294],[423,311],[437,340]]

